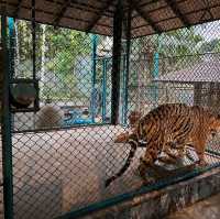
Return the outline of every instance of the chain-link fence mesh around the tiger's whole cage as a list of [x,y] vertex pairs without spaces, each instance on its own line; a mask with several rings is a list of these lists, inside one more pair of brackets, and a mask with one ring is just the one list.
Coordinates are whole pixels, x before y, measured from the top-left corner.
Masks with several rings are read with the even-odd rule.
[[[163,103],[185,102],[219,112],[219,26],[212,22],[131,40],[128,84],[122,42],[119,124],[112,125],[113,39],[37,24],[40,111],[12,114],[14,218],[56,218],[140,188],[136,168],[143,147],[123,176],[105,187],[130,151],[129,144],[114,140],[130,130],[132,111],[147,113]],[[14,23],[13,78],[33,77],[30,30],[26,21]],[[218,140],[207,142],[209,165],[219,164]],[[198,158],[194,149],[187,150],[190,156],[182,166]]]

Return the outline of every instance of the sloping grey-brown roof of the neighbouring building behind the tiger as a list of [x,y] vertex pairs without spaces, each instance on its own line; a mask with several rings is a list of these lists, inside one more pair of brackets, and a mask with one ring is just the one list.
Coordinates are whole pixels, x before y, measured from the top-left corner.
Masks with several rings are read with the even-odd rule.
[[207,57],[187,68],[160,76],[162,83],[220,83],[220,58]]

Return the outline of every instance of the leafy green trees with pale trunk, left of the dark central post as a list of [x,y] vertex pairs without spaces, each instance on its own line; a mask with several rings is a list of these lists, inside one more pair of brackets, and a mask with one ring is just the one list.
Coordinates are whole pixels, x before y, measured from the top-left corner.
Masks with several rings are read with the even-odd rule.
[[[19,76],[32,76],[32,33],[31,22],[18,22]],[[68,98],[78,95],[75,68],[80,58],[89,56],[90,36],[68,29],[55,30],[51,25],[36,25],[36,69],[41,77],[42,95],[52,98]],[[51,81],[51,78],[59,83]],[[46,79],[47,77],[47,79]],[[68,90],[67,90],[68,89]]]

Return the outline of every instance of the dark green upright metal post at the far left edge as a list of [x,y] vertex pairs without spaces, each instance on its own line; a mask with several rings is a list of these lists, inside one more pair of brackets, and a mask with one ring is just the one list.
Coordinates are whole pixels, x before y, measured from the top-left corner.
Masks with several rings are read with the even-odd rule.
[[9,102],[10,70],[9,70],[9,51],[7,43],[7,17],[1,17],[1,36],[2,36],[2,165],[3,165],[3,204],[4,218],[13,219],[13,174],[12,174],[12,128],[11,110]]

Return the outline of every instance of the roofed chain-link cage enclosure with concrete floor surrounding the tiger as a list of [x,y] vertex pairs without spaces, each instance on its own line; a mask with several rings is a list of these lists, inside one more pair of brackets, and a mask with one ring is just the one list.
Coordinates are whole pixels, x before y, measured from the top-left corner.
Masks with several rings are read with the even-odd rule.
[[[4,217],[77,218],[218,168],[217,133],[205,166],[184,145],[174,163],[156,158],[143,185],[140,139],[129,168],[105,186],[129,157],[139,114],[186,103],[218,117],[219,9],[215,0],[0,2]],[[22,109],[12,106],[14,81],[32,85],[20,84],[22,98],[34,94]]]

